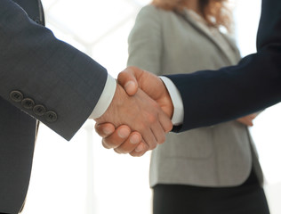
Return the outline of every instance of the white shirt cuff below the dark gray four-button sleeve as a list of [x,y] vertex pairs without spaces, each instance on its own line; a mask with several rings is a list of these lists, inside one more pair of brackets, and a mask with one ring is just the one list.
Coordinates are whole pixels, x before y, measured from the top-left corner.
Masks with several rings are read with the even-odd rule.
[[97,119],[100,118],[105,111],[108,110],[108,106],[111,103],[113,96],[115,95],[116,91],[116,79],[112,78],[108,74],[106,85],[103,88],[103,92],[100,95],[100,99],[96,106],[94,107],[92,114],[90,115],[89,119]]

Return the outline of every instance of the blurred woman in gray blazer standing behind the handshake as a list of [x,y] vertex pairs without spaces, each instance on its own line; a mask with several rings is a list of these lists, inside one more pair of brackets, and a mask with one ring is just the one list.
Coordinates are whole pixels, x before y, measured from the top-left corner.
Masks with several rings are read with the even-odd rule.
[[[237,64],[237,45],[220,30],[231,30],[227,4],[154,0],[137,16],[129,36],[128,65],[161,76]],[[169,133],[151,156],[153,213],[268,214],[261,166],[248,130],[255,116]]]

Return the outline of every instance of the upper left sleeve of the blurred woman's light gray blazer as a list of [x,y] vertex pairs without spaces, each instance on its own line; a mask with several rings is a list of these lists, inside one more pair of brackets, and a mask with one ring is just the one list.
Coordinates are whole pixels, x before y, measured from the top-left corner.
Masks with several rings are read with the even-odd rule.
[[160,74],[163,46],[159,10],[155,6],[148,5],[141,9],[128,37],[128,44],[128,66]]

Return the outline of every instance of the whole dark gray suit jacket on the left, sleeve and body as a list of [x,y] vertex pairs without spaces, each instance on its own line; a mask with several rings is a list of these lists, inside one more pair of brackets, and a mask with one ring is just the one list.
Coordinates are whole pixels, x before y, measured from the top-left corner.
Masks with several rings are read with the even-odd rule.
[[16,2],[0,0],[0,213],[18,213],[24,202],[36,119],[69,140],[91,114],[108,75],[41,25],[39,1]]

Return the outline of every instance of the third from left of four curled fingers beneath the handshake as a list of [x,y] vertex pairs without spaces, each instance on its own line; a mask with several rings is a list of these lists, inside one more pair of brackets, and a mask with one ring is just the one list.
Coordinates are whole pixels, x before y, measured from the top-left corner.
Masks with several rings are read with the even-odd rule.
[[132,132],[132,134],[124,141],[124,143],[116,147],[114,151],[117,153],[130,153],[135,150],[140,143],[141,134],[138,132]]

